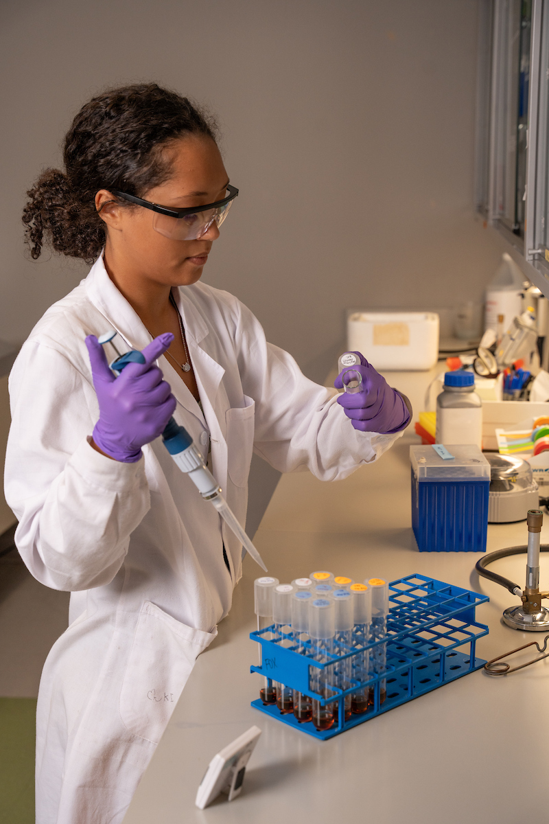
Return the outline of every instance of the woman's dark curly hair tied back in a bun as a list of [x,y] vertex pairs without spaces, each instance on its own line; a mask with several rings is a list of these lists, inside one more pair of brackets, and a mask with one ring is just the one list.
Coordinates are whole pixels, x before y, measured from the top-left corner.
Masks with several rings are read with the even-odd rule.
[[142,197],[169,180],[170,161],[161,150],[185,134],[216,142],[215,121],[156,83],[109,89],[92,98],[65,137],[65,173],[46,169],[27,192],[23,222],[30,255],[40,256],[45,235],[55,251],[92,263],[105,246],[95,194],[118,189]]

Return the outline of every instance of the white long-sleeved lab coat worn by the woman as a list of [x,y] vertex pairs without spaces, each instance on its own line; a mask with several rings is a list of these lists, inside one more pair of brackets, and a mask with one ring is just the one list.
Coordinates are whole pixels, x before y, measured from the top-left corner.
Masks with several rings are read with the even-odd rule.
[[[282,472],[337,480],[398,438],[356,432],[336,391],[268,344],[235,297],[204,283],[173,293],[203,408],[162,357],[174,417],[205,451],[211,438],[213,474],[240,522],[254,449]],[[122,821],[241,575],[241,546],[160,438],[133,464],[90,446],[99,407],[84,339],[111,328],[128,348],[151,340],[100,258],[35,326],[10,376],[16,544],[35,578],[72,593],[40,681],[38,824]]]

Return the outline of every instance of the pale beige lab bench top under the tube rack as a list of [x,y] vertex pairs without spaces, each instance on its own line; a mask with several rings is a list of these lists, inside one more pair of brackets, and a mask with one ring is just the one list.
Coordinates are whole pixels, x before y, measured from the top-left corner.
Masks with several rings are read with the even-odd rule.
[[[440,369],[439,369],[440,371]],[[422,408],[431,372],[391,372],[389,382]],[[330,569],[357,581],[420,573],[490,597],[477,620],[490,627],[477,655],[496,655],[543,639],[500,618],[514,597],[473,571],[481,554],[419,553],[411,526],[412,427],[381,460],[347,480],[322,483],[309,473],[283,475],[254,543],[281,583]],[[542,542],[549,542],[549,517]],[[486,551],[523,544],[526,522],[490,525]],[[541,586],[549,585],[542,555]],[[523,582],[525,556],[493,569]],[[472,672],[440,689],[318,741],[250,706],[260,677],[251,559],[230,615],[198,658],[124,824],[515,824],[546,814],[545,742],[549,737],[549,659],[507,677]],[[528,651],[527,651],[528,652]],[[198,784],[217,751],[256,724],[263,730],[242,794],[194,806]]]

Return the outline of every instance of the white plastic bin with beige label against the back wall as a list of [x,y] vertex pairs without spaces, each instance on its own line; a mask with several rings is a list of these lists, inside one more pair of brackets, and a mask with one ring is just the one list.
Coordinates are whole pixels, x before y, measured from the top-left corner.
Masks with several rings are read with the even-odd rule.
[[430,369],[439,358],[439,316],[426,311],[351,311],[347,349],[376,369]]

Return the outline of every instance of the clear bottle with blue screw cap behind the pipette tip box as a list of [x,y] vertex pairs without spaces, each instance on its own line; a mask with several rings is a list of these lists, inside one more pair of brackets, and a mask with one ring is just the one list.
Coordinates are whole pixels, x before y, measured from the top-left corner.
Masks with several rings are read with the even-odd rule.
[[457,369],[444,375],[444,389],[436,399],[435,441],[473,443],[482,449],[482,400],[472,372]]

